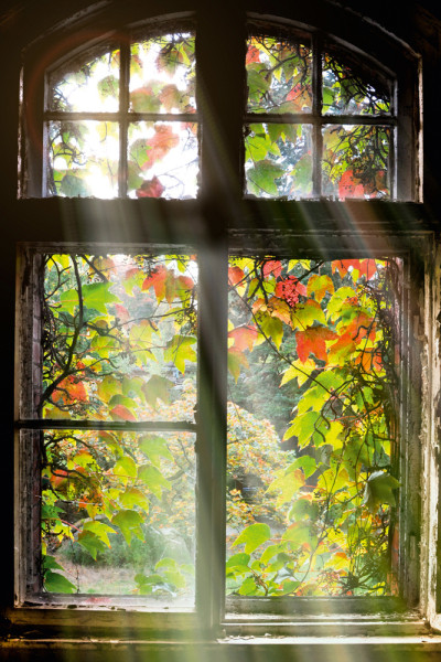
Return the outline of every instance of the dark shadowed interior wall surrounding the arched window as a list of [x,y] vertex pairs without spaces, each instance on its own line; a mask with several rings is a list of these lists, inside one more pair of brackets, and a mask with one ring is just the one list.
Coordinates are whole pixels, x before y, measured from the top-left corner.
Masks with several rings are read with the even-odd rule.
[[[396,2],[385,0],[354,0],[352,2],[321,2],[320,0],[308,0],[303,7],[295,2],[284,2],[283,0],[237,0],[232,7],[230,13],[228,3],[219,2],[212,4],[207,0],[151,0],[150,2],[137,2],[129,0],[101,0],[92,4],[88,0],[22,0],[12,2],[2,0],[0,3],[0,146],[1,146],[1,166],[0,166],[0,301],[3,327],[0,330],[1,346],[4,348],[2,359],[2,375],[4,384],[13,382],[14,360],[13,360],[13,325],[11,320],[14,316],[14,288],[15,288],[15,242],[20,237],[20,225],[26,224],[32,234],[32,239],[37,238],[40,229],[44,233],[45,218],[37,212],[37,206],[23,206],[23,201],[17,200],[18,190],[18,131],[19,131],[19,98],[20,98],[20,70],[22,63],[22,51],[29,44],[32,44],[41,35],[47,34],[50,41],[51,31],[57,25],[63,25],[73,15],[76,15],[77,24],[80,25],[88,17],[96,15],[98,21],[103,21],[106,7],[111,9],[111,15],[118,21],[118,17],[125,15],[127,7],[130,6],[135,12],[142,14],[148,12],[151,15],[163,14],[166,12],[196,11],[200,21],[212,21],[214,26],[223,24],[223,21],[232,20],[230,17],[239,15],[245,10],[252,10],[259,13],[272,15],[291,15],[293,19],[308,21],[316,15],[316,22],[324,28],[330,25],[341,25],[343,32],[351,36],[352,25],[364,25],[364,34],[355,33],[353,41],[358,36],[366,40],[368,52],[374,52],[376,44],[369,43],[367,35],[373,25],[379,25],[387,33],[394,35],[392,41],[406,44],[406,47],[413,50],[421,56],[422,81],[423,81],[423,203],[417,205],[417,214],[429,215],[437,224],[440,215],[439,200],[439,179],[440,170],[440,147],[441,147],[441,3],[434,0],[428,2],[407,2],[402,7]],[[227,13],[228,12],[228,13]],[[359,19],[364,23],[359,23]],[[354,28],[355,30],[355,28]],[[357,28],[359,30],[359,28]],[[216,30],[214,29],[214,34]],[[222,34],[218,36],[222,40]],[[25,215],[28,217],[25,218]],[[7,321],[6,321],[7,320]],[[3,505],[1,514],[1,545],[4,549],[3,555],[3,576],[0,581],[0,606],[8,606],[13,599],[13,513],[10,504],[13,494],[13,453],[12,453],[12,421],[13,421],[13,393],[12,388],[3,391],[0,406],[1,417],[4,421],[4,442],[2,458],[0,462],[0,503]],[[4,636],[8,638],[8,623],[4,622]],[[287,649],[278,648],[276,644],[260,649],[228,649],[228,652],[213,648],[196,648],[190,650],[189,647],[174,648],[173,652],[165,649],[158,649],[154,652],[148,648],[139,645],[125,644],[120,648],[99,647],[99,644],[88,644],[87,647],[76,648],[75,644],[62,645],[60,642],[55,647],[43,643],[26,643],[18,648],[14,644],[0,642],[0,659],[8,660],[143,660],[147,656],[158,656],[158,659],[181,660],[187,656],[189,662],[193,660],[205,660],[217,656],[219,660],[232,658],[233,660],[251,659],[256,660],[277,658],[281,660],[335,660],[346,654],[345,659],[355,660],[357,656],[361,662],[370,659],[385,659],[388,653],[380,649],[365,648],[359,649],[358,653],[345,653],[345,651],[330,649],[329,647]],[[420,658],[420,654],[423,658]],[[381,658],[383,655],[383,658]],[[404,652],[404,658],[410,661],[417,659],[438,659],[441,655],[439,649],[431,651],[418,651],[417,649]],[[406,658],[406,655],[408,655]]]

